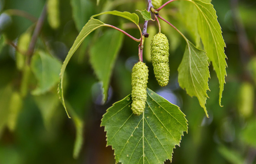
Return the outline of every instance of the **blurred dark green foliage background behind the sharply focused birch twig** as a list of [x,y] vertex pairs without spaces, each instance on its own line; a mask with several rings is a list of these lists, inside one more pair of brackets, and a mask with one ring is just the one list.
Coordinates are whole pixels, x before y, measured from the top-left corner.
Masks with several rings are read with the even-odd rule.
[[[114,63],[108,101],[102,105],[102,83],[91,67],[90,54],[97,39],[109,29],[99,28],[86,38],[71,58],[64,79],[72,119],[57,95],[58,75],[69,48],[91,15],[114,9],[136,12],[146,8],[146,1],[101,0],[97,5],[96,0],[60,0],[59,9],[51,13],[59,12],[59,20],[51,20],[51,14],[46,16],[28,66],[25,56],[30,37],[45,4],[45,0],[0,0],[0,164],[114,164],[114,152],[106,147],[106,133],[100,127],[101,118],[114,102],[131,93],[131,69],[138,61],[138,43],[124,37]],[[187,116],[188,134],[182,137],[181,147],[174,149],[173,164],[256,164],[256,1],[212,0],[212,4],[228,58],[223,107],[218,103],[219,83],[211,65],[206,105],[210,118],[206,118],[197,98],[189,97],[179,87],[177,68],[186,44],[164,22],[162,32],[170,42],[170,82],[166,87],[157,84],[146,41],[148,87],[180,106]],[[181,5],[173,2],[161,14],[192,38],[184,26]],[[140,37],[123,18],[107,15],[99,19]],[[143,26],[141,16],[140,24]],[[157,26],[149,26],[153,34]],[[45,74],[43,79],[39,78],[41,74]],[[74,147],[81,149],[80,153],[73,152]]]

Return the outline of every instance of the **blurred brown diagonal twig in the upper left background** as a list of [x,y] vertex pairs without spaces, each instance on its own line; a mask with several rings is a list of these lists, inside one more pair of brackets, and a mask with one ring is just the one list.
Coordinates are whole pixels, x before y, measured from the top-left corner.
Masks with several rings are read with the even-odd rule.
[[29,44],[29,49],[27,50],[27,55],[28,55],[27,63],[28,64],[30,64],[31,57],[34,53],[35,44],[37,43],[37,38],[39,36],[39,33],[42,30],[44,20],[45,20],[45,17],[46,17],[46,11],[47,11],[47,8],[46,8],[46,5],[45,5],[44,8],[43,8],[43,11],[42,11],[42,13],[41,13],[41,15],[40,15],[40,17],[37,21],[37,25],[35,26],[35,30],[34,30],[34,33],[32,35],[31,42]]

